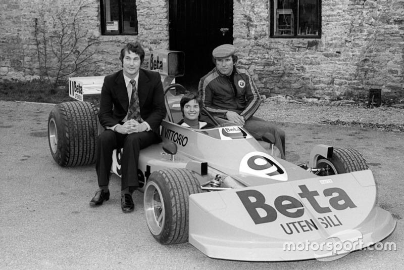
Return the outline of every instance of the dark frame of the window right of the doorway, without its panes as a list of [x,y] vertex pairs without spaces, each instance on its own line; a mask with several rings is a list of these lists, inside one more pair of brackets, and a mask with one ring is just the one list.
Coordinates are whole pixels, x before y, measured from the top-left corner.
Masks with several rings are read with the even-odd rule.
[[[321,24],[322,24],[322,15],[321,15],[321,7],[322,7],[322,0],[317,0],[318,1],[318,35],[298,35],[298,16],[293,17],[293,35],[275,35],[274,34],[274,20],[275,20],[275,4],[274,2],[277,0],[269,0],[270,4],[270,29],[269,29],[269,36],[271,38],[321,38]],[[294,7],[292,8],[293,14],[298,14],[298,5],[297,5],[297,0],[295,0]]]

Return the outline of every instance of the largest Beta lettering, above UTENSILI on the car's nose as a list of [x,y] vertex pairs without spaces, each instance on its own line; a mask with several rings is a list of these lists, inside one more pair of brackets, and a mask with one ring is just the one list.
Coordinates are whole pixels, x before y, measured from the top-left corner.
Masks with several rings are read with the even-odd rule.
[[[306,185],[301,185],[299,188],[301,193],[297,195],[299,195],[301,199],[306,199],[319,214],[332,212],[331,208],[335,210],[345,210],[346,208],[357,207],[348,194],[340,188],[329,188],[323,191],[324,197],[331,197],[336,194],[329,199],[329,205],[323,206],[316,200],[316,197],[320,196],[316,190],[309,190]],[[258,190],[237,191],[236,194],[244,205],[245,210],[247,210],[249,216],[256,224],[275,221],[278,217],[278,212],[290,218],[299,218],[305,213],[303,204],[291,196],[280,195],[276,197],[274,200],[274,208],[266,203],[264,194]],[[258,209],[260,209],[260,211],[258,211]],[[266,215],[263,215],[262,211],[264,211]]]

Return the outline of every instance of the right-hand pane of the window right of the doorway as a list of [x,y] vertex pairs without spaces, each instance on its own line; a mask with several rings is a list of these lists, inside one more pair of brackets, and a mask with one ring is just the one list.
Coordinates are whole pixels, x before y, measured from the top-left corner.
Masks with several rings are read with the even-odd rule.
[[318,35],[319,33],[319,5],[318,0],[298,1],[297,34]]

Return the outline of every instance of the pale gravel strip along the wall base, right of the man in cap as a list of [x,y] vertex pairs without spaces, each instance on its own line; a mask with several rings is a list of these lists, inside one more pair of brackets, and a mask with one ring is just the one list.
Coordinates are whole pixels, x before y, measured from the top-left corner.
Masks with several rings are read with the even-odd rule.
[[367,108],[340,102],[296,102],[266,99],[255,114],[275,122],[359,126],[388,132],[404,132],[404,109],[400,106]]

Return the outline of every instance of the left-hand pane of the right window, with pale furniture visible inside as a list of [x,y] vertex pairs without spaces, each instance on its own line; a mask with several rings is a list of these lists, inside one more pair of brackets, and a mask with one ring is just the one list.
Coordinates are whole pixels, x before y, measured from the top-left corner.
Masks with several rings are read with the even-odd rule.
[[275,0],[274,35],[293,35],[293,8],[295,0]]

